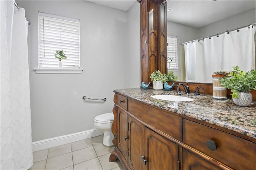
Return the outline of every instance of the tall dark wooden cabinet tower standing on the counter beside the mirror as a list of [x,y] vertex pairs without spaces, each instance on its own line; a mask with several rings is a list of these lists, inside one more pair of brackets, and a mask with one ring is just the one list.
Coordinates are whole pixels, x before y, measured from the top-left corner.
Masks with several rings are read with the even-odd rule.
[[140,2],[140,83],[148,84],[154,71],[167,73],[166,2],[137,1]]

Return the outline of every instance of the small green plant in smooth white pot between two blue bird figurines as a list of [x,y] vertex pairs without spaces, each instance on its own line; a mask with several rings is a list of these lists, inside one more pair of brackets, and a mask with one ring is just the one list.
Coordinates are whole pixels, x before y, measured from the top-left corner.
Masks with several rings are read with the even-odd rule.
[[153,89],[162,90],[164,88],[163,83],[167,81],[166,74],[162,74],[159,70],[151,73],[150,75],[151,81],[153,81]]

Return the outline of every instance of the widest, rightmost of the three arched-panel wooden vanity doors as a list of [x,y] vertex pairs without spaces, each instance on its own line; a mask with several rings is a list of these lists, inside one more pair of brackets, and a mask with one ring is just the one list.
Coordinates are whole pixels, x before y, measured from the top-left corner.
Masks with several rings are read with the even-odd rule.
[[178,170],[179,146],[145,127],[146,169]]

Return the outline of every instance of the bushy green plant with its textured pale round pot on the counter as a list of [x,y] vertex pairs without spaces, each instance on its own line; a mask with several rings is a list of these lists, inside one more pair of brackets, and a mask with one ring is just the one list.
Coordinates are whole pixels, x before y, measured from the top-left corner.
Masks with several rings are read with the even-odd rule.
[[232,67],[234,71],[230,71],[220,83],[224,87],[231,89],[233,92],[232,99],[238,106],[248,106],[252,103],[251,89],[256,90],[256,71],[241,71],[238,66]]

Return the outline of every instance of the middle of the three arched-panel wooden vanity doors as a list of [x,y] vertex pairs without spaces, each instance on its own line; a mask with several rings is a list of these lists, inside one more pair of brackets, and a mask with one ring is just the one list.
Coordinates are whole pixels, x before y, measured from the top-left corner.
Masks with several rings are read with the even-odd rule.
[[144,156],[144,125],[129,117],[129,167],[134,170],[145,168]]

